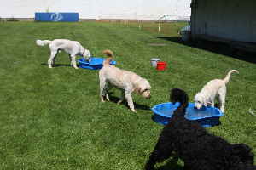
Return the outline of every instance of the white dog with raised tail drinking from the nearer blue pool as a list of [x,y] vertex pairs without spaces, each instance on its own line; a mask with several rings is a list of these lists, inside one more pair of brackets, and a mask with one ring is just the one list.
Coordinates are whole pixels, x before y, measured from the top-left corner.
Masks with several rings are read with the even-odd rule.
[[201,89],[201,92],[195,94],[195,108],[201,109],[203,105],[214,106],[214,99],[218,96],[218,102],[220,105],[220,110],[224,111],[225,97],[226,97],[226,84],[230,81],[230,76],[232,72],[239,73],[236,70],[231,70],[228,72],[224,79],[214,79]]

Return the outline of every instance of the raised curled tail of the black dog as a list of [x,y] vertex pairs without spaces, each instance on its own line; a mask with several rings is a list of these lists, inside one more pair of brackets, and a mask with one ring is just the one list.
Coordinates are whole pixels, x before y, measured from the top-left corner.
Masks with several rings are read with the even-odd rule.
[[189,105],[188,94],[182,89],[173,88],[171,90],[170,100],[172,103],[180,103],[177,109],[173,112],[173,116],[185,116],[186,109]]

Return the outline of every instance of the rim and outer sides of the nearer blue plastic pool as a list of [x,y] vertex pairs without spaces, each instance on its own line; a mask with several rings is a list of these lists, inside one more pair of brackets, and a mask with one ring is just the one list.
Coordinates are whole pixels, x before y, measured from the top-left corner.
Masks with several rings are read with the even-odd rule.
[[[172,103],[166,102],[166,103],[154,105],[154,107],[151,108],[151,111],[154,112],[154,117],[153,117],[154,122],[157,122],[161,125],[166,125],[169,122],[169,120],[171,119],[172,114],[165,115],[165,114],[161,113],[160,111],[158,111],[157,108],[160,107],[161,105],[172,105]],[[173,110],[175,110],[178,105],[180,105],[180,104],[177,102],[174,105]],[[195,105],[194,103],[189,103],[189,107],[194,107],[194,105]],[[219,125],[220,124],[219,117],[224,116],[224,113],[222,111],[220,111],[218,108],[215,108],[212,106],[207,106],[206,109],[214,109],[215,111],[218,112],[218,114],[211,115],[211,116],[203,116],[200,118],[187,116],[187,114],[186,114],[185,117],[189,120],[199,122],[202,127],[213,127],[213,126]]]

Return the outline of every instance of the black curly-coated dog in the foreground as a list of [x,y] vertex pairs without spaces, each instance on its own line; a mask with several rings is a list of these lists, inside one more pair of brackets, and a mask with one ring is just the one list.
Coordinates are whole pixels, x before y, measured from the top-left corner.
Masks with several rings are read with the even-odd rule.
[[145,166],[154,169],[156,162],[171,156],[184,162],[184,170],[255,170],[252,149],[247,144],[230,144],[226,140],[207,133],[195,121],[184,118],[189,97],[181,89],[174,88],[172,102],[181,105],[174,111],[170,122],[163,128],[160,138]]

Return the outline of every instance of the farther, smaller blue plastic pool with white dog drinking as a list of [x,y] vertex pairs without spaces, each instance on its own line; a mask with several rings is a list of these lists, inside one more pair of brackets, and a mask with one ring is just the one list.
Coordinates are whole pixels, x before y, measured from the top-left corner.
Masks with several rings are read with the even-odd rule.
[[[103,67],[104,58],[91,57],[90,62],[81,58],[78,60],[79,67],[83,69],[99,70]],[[111,61],[110,65],[116,65],[116,61]]]

